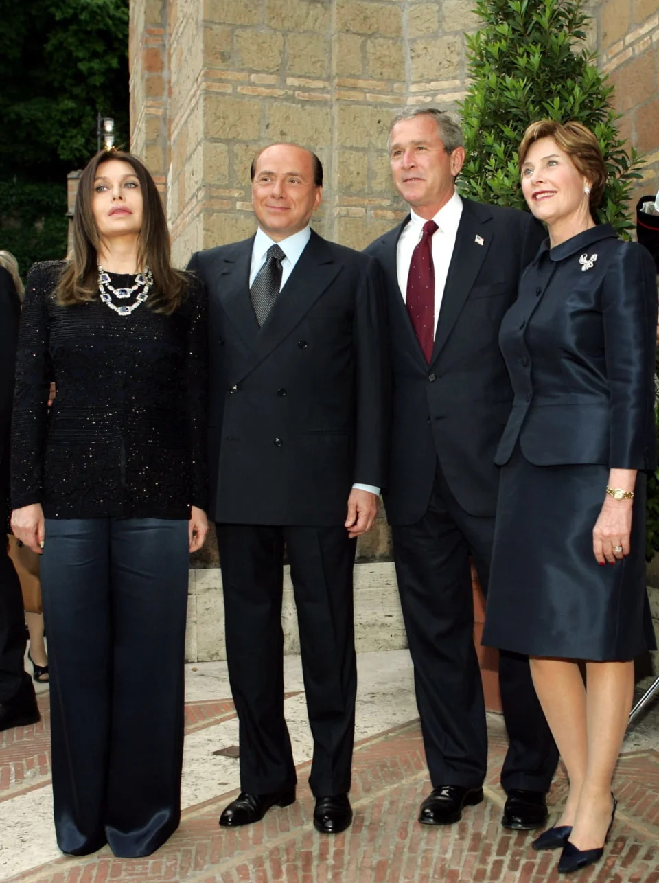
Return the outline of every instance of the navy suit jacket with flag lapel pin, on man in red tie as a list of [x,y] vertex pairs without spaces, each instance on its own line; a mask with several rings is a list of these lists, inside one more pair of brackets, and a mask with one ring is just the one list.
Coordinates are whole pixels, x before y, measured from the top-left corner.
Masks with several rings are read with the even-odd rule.
[[494,454],[513,400],[498,329],[545,233],[526,212],[463,199],[429,365],[396,273],[396,246],[408,220],[366,249],[384,271],[389,307],[393,431],[386,514],[392,525],[423,516],[439,460],[461,507],[493,516]]

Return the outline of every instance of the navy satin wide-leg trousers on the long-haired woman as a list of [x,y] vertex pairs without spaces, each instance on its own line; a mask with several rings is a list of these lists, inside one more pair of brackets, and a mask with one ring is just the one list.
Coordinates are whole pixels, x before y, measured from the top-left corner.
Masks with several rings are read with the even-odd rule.
[[47,519],[57,844],[147,856],[180,818],[188,523]]

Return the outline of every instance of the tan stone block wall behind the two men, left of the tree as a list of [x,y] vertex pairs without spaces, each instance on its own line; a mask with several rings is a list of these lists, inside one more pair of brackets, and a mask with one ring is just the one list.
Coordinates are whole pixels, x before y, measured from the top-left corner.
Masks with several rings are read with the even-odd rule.
[[132,0],[132,147],[166,184],[177,262],[251,234],[249,165],[272,140],[317,150],[320,233],[359,248],[389,229],[389,120],[462,97],[471,5]]

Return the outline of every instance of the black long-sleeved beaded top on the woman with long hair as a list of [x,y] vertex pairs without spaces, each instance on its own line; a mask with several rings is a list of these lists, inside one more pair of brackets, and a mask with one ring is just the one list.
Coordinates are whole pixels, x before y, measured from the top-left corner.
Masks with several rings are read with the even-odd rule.
[[[206,297],[171,315],[60,306],[63,264],[35,264],[19,327],[11,502],[47,518],[188,518],[206,509]],[[115,288],[135,276],[110,274]],[[129,306],[130,306],[130,302]],[[48,409],[49,383],[56,383]]]

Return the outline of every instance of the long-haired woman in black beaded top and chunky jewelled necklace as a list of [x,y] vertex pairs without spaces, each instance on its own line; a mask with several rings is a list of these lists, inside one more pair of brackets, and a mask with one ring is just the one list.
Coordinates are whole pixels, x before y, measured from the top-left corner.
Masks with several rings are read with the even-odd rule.
[[[206,304],[154,180],[101,152],[73,249],[19,329],[13,532],[41,555],[57,843],[150,855],[176,830],[189,553],[206,538]],[[49,383],[56,398],[48,411]]]

